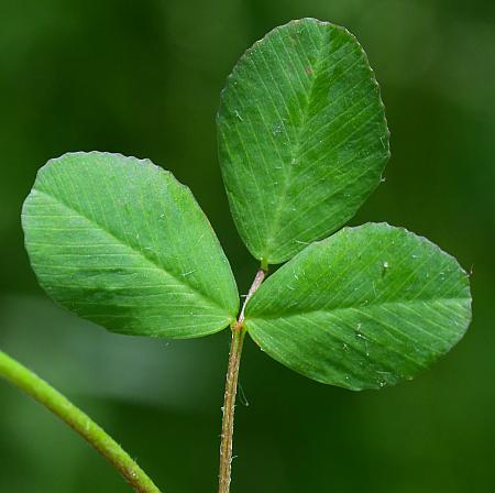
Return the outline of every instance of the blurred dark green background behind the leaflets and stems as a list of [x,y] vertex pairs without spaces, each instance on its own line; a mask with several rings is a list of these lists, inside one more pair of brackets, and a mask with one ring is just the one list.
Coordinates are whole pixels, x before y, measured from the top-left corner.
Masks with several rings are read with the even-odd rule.
[[[493,492],[493,0],[0,0],[0,348],[105,425],[165,493],[216,491],[228,332],[166,342],[78,320],[36,285],[20,209],[36,169],[66,151],[150,157],[191,187],[245,293],[256,264],[220,177],[219,92],[245,48],[301,17],[358,36],[387,107],[386,183],[352,222],[405,226],[473,269],[474,321],[416,381],[360,394],[248,341],[233,492]],[[0,382],[0,491],[129,489]]]

